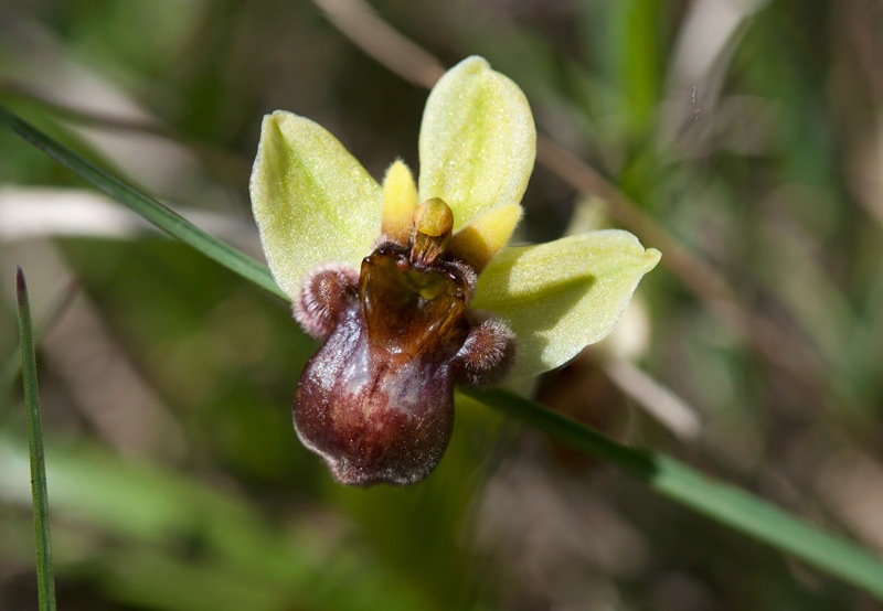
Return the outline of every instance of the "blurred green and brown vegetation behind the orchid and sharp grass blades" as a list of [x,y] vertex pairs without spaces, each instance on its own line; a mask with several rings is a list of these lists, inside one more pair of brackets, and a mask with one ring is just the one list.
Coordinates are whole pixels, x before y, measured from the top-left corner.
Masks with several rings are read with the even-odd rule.
[[[417,167],[433,56],[483,55],[545,136],[518,240],[625,227],[663,255],[614,335],[522,390],[883,554],[883,4],[372,7],[0,0],[0,103],[260,257],[264,114],[380,178]],[[2,130],[2,610],[36,605],[15,262],[60,609],[883,609],[462,397],[424,483],[334,484],[292,431],[316,345],[288,307]]]

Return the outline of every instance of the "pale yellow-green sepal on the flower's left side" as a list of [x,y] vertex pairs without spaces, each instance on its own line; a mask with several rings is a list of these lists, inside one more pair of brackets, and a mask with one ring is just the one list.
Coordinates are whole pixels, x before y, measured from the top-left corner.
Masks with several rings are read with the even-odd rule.
[[292,301],[310,269],[359,269],[380,235],[377,182],[330,132],[291,112],[264,118],[249,190],[267,264]]

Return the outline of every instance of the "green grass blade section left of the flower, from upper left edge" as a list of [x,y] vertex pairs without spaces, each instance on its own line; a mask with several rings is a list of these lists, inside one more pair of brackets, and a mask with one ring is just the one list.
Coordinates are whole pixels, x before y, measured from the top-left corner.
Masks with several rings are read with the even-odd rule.
[[100,191],[170,236],[189,244],[206,257],[251,280],[258,287],[287,299],[279,290],[279,287],[276,286],[269,270],[253,258],[240,253],[213,235],[203,232],[168,206],[139,193],[119,179],[93,165],[2,106],[0,106],[0,122],[6,124],[12,131],[31,144],[58,161],[65,168],[73,170]]

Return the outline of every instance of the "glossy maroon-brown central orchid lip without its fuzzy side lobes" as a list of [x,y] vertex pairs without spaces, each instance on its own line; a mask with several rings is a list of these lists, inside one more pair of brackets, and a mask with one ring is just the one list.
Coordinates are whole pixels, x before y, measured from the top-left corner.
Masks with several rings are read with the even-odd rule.
[[[442,289],[427,299],[415,279]],[[301,441],[342,483],[405,485],[438,464],[454,429],[451,360],[468,334],[465,285],[444,262],[416,269],[395,245],[365,257],[294,409]]]

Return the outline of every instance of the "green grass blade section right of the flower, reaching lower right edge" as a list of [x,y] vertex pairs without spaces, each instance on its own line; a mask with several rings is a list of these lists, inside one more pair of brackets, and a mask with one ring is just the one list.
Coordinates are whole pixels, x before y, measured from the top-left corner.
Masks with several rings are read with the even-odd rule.
[[651,490],[883,600],[883,559],[770,503],[684,463],[617,443],[524,397],[494,389],[464,394],[514,416],[574,449],[602,458]]

